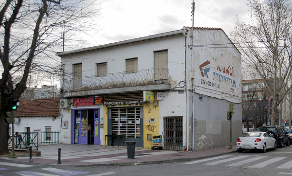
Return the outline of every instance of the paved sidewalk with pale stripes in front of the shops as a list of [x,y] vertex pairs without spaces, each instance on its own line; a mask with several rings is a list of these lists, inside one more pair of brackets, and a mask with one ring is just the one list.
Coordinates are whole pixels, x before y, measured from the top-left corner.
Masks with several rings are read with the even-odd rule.
[[[32,157],[34,163],[57,165],[58,148],[61,148],[61,165],[71,166],[98,166],[98,165],[140,165],[157,164],[179,161],[190,161],[196,158],[206,158],[237,151],[229,146],[199,150],[194,152],[151,150],[135,147],[135,158],[127,159],[127,146],[99,146],[81,144],[55,144],[40,146],[41,157]],[[11,161],[29,162],[29,156],[17,156],[17,158],[1,157]]]

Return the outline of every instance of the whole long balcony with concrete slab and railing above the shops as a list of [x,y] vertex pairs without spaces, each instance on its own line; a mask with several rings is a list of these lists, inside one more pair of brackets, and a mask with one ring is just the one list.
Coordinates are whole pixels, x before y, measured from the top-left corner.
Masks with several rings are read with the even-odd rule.
[[[73,76],[72,76],[73,77]],[[159,91],[170,89],[167,69],[146,69],[86,76],[81,79],[64,79],[64,97],[126,93],[135,91]]]

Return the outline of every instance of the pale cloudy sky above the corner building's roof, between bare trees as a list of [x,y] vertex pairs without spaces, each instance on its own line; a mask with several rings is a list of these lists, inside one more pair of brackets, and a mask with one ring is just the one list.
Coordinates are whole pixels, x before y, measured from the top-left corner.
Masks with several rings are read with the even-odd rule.
[[[237,17],[248,17],[247,0],[195,0],[194,27],[221,28],[227,35]],[[102,0],[100,31],[85,47],[155,35],[192,26],[192,0]]]

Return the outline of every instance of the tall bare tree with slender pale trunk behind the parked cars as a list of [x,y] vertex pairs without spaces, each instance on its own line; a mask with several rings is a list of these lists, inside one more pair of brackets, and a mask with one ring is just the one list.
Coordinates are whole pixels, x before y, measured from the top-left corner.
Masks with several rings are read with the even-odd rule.
[[[276,108],[291,85],[292,1],[248,0],[250,19],[237,22],[233,41],[242,53],[242,64],[262,79],[273,97],[272,125]],[[272,83],[269,81],[272,79]]]

